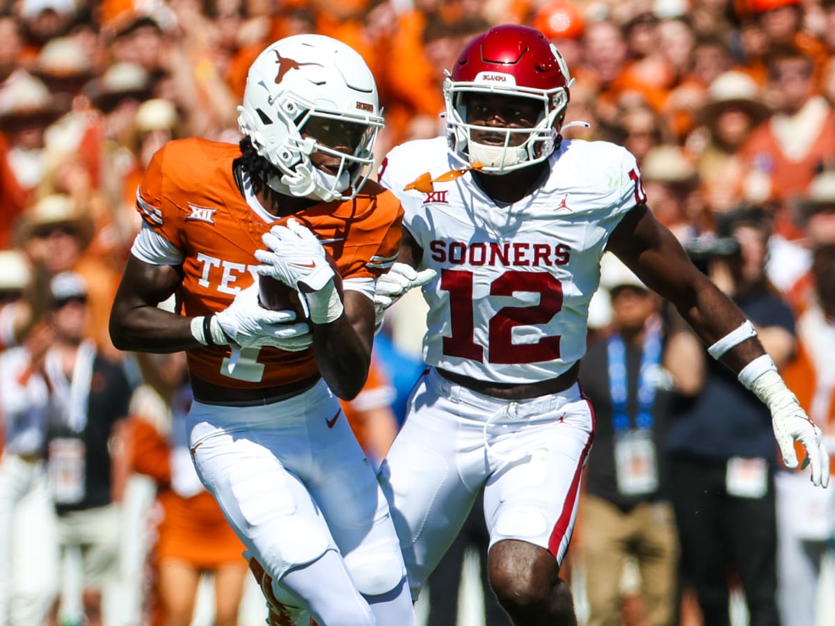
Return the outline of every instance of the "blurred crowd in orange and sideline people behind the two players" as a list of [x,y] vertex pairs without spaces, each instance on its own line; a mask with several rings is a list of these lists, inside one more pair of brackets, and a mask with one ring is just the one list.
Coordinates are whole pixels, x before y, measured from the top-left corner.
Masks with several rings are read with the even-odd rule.
[[[356,48],[377,77],[382,159],[407,139],[443,134],[443,70],[498,23],[534,26],[556,44],[576,79],[566,122],[590,124],[564,136],[635,154],[650,209],[743,305],[835,441],[833,0],[7,0],[0,626],[101,623],[99,590],[117,579],[119,610],[104,623],[188,624],[204,572],[215,575],[214,623],[239,619],[248,572],[190,467],[183,359],[124,354],[108,336],[151,155],[195,135],[237,143],[235,108],[257,53],[286,35],[322,33]],[[374,462],[422,371],[423,310],[419,294],[392,309],[367,390],[347,407]],[[616,404],[605,350],[594,357],[599,366],[584,368],[584,387],[604,408],[595,405],[600,432],[565,571],[581,617],[714,626],[723,619],[705,615],[741,589],[752,624],[835,624],[835,613],[810,613],[832,550],[832,487],[809,492],[806,477],[780,467],[770,424],[759,413],[746,418],[745,401],[711,396],[705,406],[726,373],[711,369],[699,346],[673,341],[676,316],[607,261],[590,346],[636,325],[663,329],[661,370],[684,364],[695,374],[677,377],[677,387],[664,376],[651,383],[671,395],[656,394],[653,407],[660,481],[624,497],[613,483],[618,461],[607,458],[607,437],[617,433],[603,423],[607,402]],[[74,370],[62,370],[67,362]],[[72,376],[61,375],[67,370]],[[762,432],[765,443],[751,444]],[[718,486],[696,491],[716,497],[700,500],[692,484],[714,466]],[[127,503],[139,475],[148,495]],[[38,514],[54,518],[22,545],[16,511],[33,498],[43,503]],[[732,532],[751,506],[765,530]],[[483,553],[474,512],[462,541]],[[439,568],[436,588],[452,593],[463,552]],[[444,595],[432,592],[430,583],[430,598]],[[486,600],[487,622],[507,623],[489,592]],[[433,610],[446,613],[430,613],[429,623],[456,623],[454,606]]]

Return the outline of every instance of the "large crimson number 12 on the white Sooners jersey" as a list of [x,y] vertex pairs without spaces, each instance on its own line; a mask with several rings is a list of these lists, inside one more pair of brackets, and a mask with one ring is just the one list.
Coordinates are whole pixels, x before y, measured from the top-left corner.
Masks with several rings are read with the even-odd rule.
[[548,272],[507,270],[490,284],[490,295],[514,295],[517,291],[539,294],[538,305],[504,306],[488,321],[488,346],[475,342],[473,272],[442,270],[441,289],[449,293],[452,336],[443,338],[443,354],[488,363],[523,364],[559,359],[559,336],[542,337],[537,343],[514,344],[516,326],[547,324],[563,308],[563,286]]

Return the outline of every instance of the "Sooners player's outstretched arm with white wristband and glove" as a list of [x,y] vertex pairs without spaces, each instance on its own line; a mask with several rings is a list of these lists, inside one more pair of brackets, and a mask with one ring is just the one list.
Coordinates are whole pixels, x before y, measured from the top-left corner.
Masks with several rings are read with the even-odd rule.
[[787,467],[797,467],[793,442],[801,442],[811,466],[812,482],[826,487],[829,457],[820,429],[777,374],[751,322],[691,263],[675,235],[641,204],[625,215],[612,233],[608,250],[645,285],[670,300],[701,341],[710,346],[711,356],[730,367],[740,382],[768,406]]

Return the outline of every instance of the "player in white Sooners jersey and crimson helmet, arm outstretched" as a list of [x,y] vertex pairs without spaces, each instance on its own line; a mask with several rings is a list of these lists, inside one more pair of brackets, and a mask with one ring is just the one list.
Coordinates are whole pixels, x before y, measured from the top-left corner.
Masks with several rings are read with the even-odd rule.
[[429,305],[429,368],[379,474],[412,598],[484,487],[490,582],[518,626],[576,623],[559,566],[595,433],[577,371],[605,250],[769,406],[787,465],[797,440],[812,482],[829,475],[820,430],[751,323],[655,220],[632,154],[561,138],[571,83],[539,31],[491,28],[448,73],[447,137],[402,144],[381,166],[406,215],[377,311],[417,285]]

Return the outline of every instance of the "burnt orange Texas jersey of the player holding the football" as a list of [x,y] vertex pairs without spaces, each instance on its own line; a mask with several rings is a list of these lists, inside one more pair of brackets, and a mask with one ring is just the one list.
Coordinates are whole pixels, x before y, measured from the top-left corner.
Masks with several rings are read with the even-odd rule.
[[[256,277],[261,235],[287,218],[268,221],[241,194],[232,173],[235,144],[171,141],[145,170],[136,204],[142,219],[184,255],[180,300],[185,316],[224,310]],[[310,228],[337,262],[343,279],[381,275],[397,255],[402,209],[368,181],[357,198],[314,204],[292,215]],[[316,376],[311,350],[246,348],[233,372],[228,346],[188,353],[195,376],[218,386],[283,386]]]

